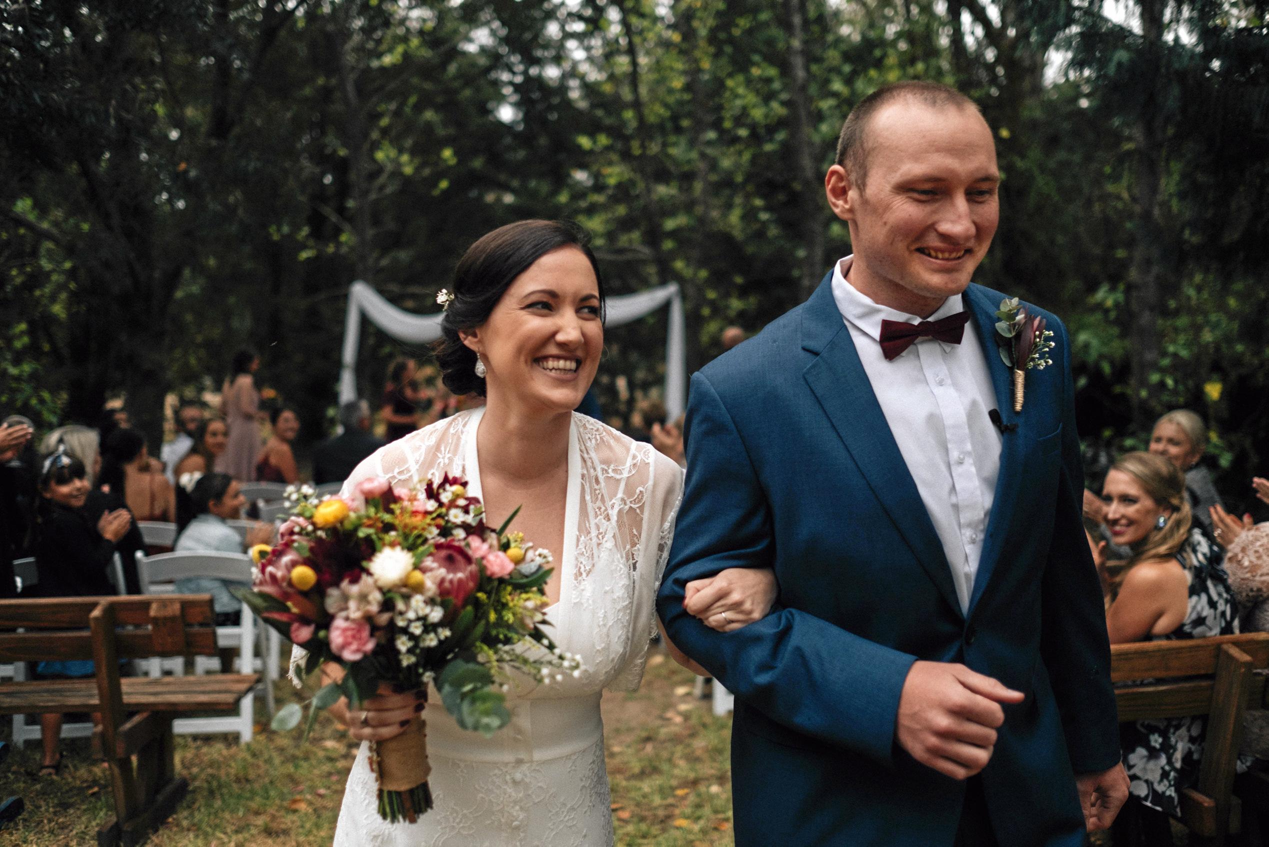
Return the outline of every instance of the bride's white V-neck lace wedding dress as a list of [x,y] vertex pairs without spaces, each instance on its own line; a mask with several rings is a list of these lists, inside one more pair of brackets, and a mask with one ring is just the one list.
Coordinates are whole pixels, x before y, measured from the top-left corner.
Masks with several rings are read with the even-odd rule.
[[[476,429],[483,409],[420,429],[362,462],[345,491],[382,476],[411,484],[442,472],[480,495]],[[435,809],[415,824],[379,819],[367,744],[353,764],[336,847],[566,847],[612,844],[600,692],[633,691],[654,632],[656,585],[681,495],[679,466],[650,444],[574,414],[560,602],[548,632],[582,657],[580,678],[508,697],[511,723],[492,738],[459,729],[431,691],[428,756]]]

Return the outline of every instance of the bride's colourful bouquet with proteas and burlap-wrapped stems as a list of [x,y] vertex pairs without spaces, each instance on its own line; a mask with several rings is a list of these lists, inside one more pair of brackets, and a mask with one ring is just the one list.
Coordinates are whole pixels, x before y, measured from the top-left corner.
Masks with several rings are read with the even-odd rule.
[[[515,514],[490,528],[464,480],[442,476],[420,490],[371,479],[349,497],[317,500],[305,486],[287,498],[292,514],[278,544],[253,550],[251,588],[235,594],[307,650],[306,676],[326,662],[344,668],[310,701],[306,735],[317,710],[340,697],[355,710],[381,686],[429,682],[459,726],[492,735],[511,717],[504,692],[513,669],[544,683],[580,673],[542,629],[551,554],[506,533]],[[302,719],[291,704],[273,725]],[[423,720],[372,742],[371,767],[382,818],[412,823],[431,808]]]

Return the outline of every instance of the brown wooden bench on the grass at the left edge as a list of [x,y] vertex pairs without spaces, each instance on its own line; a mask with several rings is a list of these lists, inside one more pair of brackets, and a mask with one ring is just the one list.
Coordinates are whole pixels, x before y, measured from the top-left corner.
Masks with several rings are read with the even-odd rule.
[[[6,631],[15,629],[24,631]],[[232,710],[259,681],[256,674],[121,679],[119,660],[216,650],[209,594],[0,601],[0,662],[95,663],[95,676],[85,679],[0,683],[0,715],[102,715],[93,740],[110,766],[115,817],[98,830],[100,847],[145,842],[185,796],[189,785],[176,777],[173,758],[174,716]]]

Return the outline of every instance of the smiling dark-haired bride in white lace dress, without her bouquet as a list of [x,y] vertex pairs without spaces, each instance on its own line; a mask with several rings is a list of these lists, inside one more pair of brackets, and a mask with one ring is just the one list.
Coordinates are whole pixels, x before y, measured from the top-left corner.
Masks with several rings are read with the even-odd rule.
[[[368,477],[409,485],[448,472],[468,480],[491,526],[520,507],[511,528],[556,556],[548,634],[584,669],[560,683],[516,681],[511,721],[492,738],[459,729],[433,690],[424,714],[435,808],[415,824],[382,820],[363,743],[336,847],[612,844],[600,693],[633,691],[642,678],[683,474],[651,446],[572,411],[599,366],[603,315],[598,264],[571,225],[520,221],[483,236],[456,270],[437,358],[450,391],[486,405],[383,447],[345,483],[350,493]],[[718,629],[770,608],[770,571],[714,579],[725,578],[708,610]],[[335,679],[339,667],[322,673]],[[353,738],[383,740],[423,710],[420,696],[355,710],[341,701],[331,712]]]

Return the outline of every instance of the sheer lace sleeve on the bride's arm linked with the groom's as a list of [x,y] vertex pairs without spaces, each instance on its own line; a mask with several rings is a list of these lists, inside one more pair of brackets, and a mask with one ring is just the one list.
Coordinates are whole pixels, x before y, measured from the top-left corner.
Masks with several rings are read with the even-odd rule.
[[683,503],[683,469],[659,452],[652,452],[651,495],[643,517],[645,537],[655,537],[656,546],[641,551],[634,574],[634,606],[631,621],[631,650],[626,667],[608,684],[609,691],[638,691],[647,664],[647,645],[656,637],[656,593],[670,559],[674,521]]

